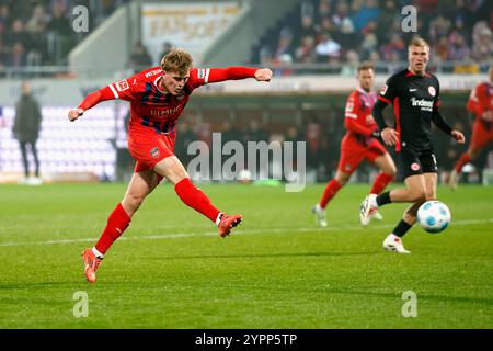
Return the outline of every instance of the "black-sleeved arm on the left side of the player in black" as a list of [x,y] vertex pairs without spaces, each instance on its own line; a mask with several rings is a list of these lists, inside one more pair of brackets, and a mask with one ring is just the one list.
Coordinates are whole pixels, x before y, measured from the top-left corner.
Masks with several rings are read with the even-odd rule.
[[395,145],[398,143],[399,134],[394,128],[391,128],[387,125],[383,118],[383,110],[388,104],[392,103],[393,99],[397,97],[397,87],[398,84],[395,83],[395,76],[390,77],[381,89],[371,113],[375,122],[377,122],[381,139],[386,145],[389,146]]

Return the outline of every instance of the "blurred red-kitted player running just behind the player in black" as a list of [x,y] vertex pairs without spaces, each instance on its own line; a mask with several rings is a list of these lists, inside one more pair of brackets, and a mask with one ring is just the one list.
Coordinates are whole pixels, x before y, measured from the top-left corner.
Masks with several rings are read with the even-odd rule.
[[[326,184],[322,199],[312,208],[317,223],[326,227],[325,206],[337,191],[349,180],[359,163],[367,159],[381,172],[375,179],[370,194],[380,194],[395,176],[395,165],[383,145],[378,141],[378,126],[371,116],[376,92],[374,67],[363,64],[358,67],[359,87],[347,98],[344,125],[347,133],[341,141],[341,157],[335,177]],[[379,214],[376,218],[381,219]]]

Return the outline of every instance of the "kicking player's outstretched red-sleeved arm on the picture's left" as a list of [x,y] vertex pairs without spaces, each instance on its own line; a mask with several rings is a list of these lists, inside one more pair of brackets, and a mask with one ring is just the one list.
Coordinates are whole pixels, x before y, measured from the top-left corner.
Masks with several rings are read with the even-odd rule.
[[[130,82],[133,83],[130,84]],[[136,84],[136,82],[137,82],[136,77],[131,77],[128,79],[121,80],[116,83],[111,83],[110,86],[106,86],[102,89],[89,93],[77,109],[72,109],[69,111],[68,113],[69,121],[70,122],[76,121],[81,115],[83,115],[87,110],[95,106],[96,104],[103,101],[114,99],[122,99],[127,101],[131,100],[133,87]]]

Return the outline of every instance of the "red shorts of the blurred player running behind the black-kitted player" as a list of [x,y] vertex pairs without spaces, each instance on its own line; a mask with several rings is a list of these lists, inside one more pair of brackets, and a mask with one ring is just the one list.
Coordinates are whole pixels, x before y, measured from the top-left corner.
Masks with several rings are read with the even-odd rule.
[[371,138],[366,146],[354,136],[346,134],[341,141],[341,158],[337,169],[352,174],[365,158],[374,162],[377,157],[383,156],[386,152],[385,146],[376,138]]

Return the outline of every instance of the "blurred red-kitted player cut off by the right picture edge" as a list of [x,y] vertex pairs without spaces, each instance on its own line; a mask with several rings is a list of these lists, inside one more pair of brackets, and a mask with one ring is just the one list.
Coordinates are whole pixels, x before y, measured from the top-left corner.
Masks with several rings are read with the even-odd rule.
[[474,160],[481,150],[493,141],[493,66],[489,70],[490,81],[479,83],[469,97],[466,107],[475,115],[471,144],[450,173],[449,186],[456,189],[466,163]]

